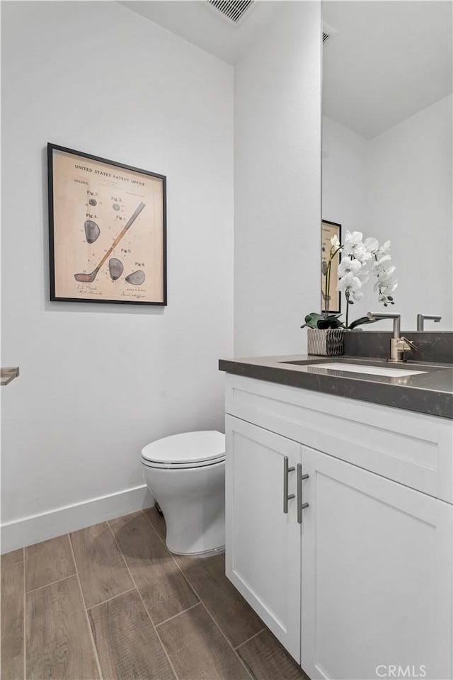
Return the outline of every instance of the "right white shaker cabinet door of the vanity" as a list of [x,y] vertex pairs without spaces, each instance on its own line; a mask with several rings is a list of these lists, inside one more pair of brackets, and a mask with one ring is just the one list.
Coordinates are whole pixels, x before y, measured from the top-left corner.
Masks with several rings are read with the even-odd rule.
[[309,448],[302,463],[306,673],[452,679],[453,506]]

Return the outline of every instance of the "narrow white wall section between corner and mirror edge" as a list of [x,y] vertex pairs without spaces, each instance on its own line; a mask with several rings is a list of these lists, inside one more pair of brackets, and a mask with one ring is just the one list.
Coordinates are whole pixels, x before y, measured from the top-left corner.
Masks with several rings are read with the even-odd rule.
[[285,2],[234,77],[234,353],[302,352],[320,304],[321,4]]

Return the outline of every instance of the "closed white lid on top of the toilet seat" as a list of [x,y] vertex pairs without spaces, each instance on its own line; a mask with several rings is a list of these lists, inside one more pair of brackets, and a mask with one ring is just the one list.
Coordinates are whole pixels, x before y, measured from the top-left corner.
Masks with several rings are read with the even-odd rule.
[[225,435],[217,430],[183,432],[157,439],[142,448],[142,457],[156,463],[195,463],[225,455]]

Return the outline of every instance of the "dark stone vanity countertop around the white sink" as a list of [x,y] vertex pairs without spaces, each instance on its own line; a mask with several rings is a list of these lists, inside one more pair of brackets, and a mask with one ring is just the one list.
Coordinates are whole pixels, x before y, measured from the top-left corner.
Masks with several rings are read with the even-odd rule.
[[[384,376],[314,368],[313,364],[361,364],[413,370],[417,375]],[[410,361],[394,364],[382,358],[358,356],[259,356],[220,359],[219,370],[247,378],[302,387],[328,395],[360,399],[397,409],[453,419],[453,364]]]

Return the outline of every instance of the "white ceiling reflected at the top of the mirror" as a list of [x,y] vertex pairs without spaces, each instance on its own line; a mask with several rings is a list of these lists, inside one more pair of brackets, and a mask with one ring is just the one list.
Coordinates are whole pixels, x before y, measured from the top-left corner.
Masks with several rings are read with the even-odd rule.
[[324,1],[323,113],[371,138],[452,92],[451,1]]

